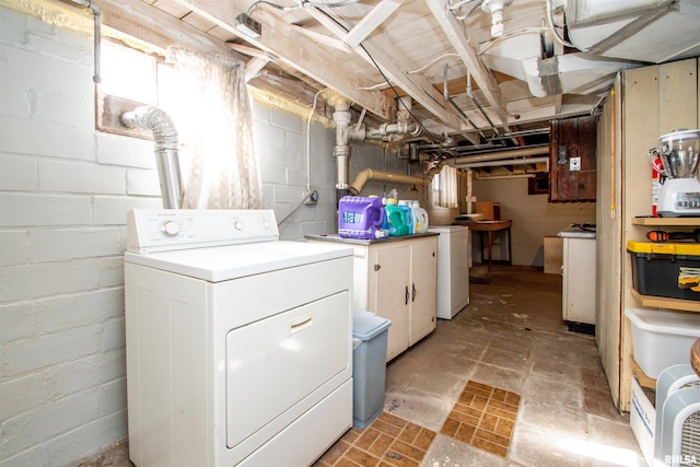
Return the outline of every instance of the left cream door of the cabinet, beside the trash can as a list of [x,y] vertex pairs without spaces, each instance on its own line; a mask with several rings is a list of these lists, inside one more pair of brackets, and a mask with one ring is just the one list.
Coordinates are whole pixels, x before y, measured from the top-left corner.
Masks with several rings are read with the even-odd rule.
[[377,315],[388,318],[386,361],[408,349],[410,317],[410,256],[404,243],[370,248],[368,305]]

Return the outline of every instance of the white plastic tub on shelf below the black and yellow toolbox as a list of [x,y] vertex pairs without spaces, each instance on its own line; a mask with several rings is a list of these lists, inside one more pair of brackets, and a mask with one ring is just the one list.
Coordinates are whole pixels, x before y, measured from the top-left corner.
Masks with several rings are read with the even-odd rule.
[[627,308],[632,324],[634,361],[656,380],[672,365],[690,363],[690,347],[700,338],[700,315]]

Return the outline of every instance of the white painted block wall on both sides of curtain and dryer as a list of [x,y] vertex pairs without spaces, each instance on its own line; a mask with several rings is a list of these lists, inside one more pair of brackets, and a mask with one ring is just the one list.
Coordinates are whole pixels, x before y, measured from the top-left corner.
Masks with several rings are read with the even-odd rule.
[[[0,24],[0,467],[63,466],[127,436],[126,212],[162,203],[152,143],[94,130],[92,37],[4,8]],[[254,118],[281,219],[306,187],[306,122],[257,104]],[[280,227],[285,240],[337,227],[334,132],[312,136],[320,201]],[[351,161],[351,176],[406,173],[374,145]]]

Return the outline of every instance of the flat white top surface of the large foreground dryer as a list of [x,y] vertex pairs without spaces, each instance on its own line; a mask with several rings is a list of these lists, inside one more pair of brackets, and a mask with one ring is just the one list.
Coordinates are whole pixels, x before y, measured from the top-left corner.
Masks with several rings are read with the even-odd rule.
[[352,256],[351,247],[276,241],[147,254],[127,252],[124,259],[209,282],[222,282],[345,256]]

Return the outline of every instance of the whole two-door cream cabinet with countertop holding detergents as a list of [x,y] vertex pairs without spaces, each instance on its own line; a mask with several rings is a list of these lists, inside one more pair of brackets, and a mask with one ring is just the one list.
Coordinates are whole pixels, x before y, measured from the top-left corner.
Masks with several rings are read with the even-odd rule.
[[307,235],[306,240],[352,245],[353,307],[392,322],[387,362],[435,329],[438,234],[372,241]]

